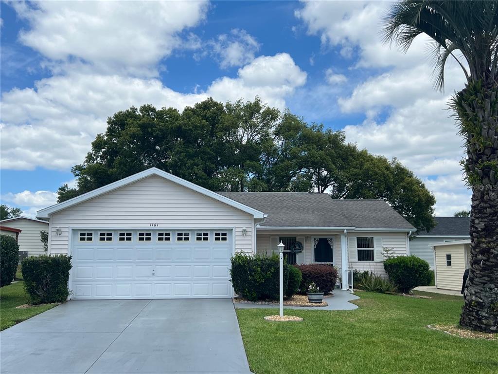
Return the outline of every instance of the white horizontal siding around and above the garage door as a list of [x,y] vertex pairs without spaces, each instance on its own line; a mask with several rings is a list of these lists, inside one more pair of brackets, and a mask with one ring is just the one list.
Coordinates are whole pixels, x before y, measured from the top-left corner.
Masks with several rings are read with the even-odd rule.
[[[55,233],[56,227],[62,230],[60,236]],[[234,229],[235,250],[253,251],[251,214],[157,176],[144,178],[52,214],[50,253],[68,253],[70,228],[83,227],[100,230],[117,228],[120,231],[143,228],[158,232],[168,228]],[[243,228],[247,230],[246,235],[242,233]]]

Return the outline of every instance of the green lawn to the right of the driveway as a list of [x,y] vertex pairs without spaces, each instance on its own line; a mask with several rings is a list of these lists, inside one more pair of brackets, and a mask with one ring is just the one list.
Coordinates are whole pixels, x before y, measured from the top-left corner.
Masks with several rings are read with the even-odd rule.
[[237,310],[251,371],[498,373],[497,340],[462,339],[425,327],[456,324],[461,297],[358,295],[354,311],[286,311],[303,322],[263,320],[276,309]]

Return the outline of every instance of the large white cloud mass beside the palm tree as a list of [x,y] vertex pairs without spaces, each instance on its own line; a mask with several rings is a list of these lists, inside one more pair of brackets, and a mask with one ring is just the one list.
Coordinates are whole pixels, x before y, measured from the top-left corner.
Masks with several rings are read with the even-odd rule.
[[[341,55],[352,59],[351,74],[358,69],[383,71],[357,84],[351,95],[338,99],[343,113],[364,113],[367,117],[344,128],[347,139],[375,154],[397,157],[435,193],[436,214],[452,215],[468,209],[470,192],[459,165],[463,141],[447,109],[450,95],[433,88],[428,37],[418,36],[406,54],[382,43],[381,16],[389,5],[305,2],[296,16],[305,22],[309,34],[320,37],[324,47],[339,46]],[[463,84],[462,71],[450,62],[446,92],[459,90]]]

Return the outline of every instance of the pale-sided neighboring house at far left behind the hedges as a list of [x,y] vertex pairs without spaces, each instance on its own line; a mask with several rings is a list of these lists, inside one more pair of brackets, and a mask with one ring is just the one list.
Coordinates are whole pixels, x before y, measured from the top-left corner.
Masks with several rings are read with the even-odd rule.
[[40,231],[48,231],[47,221],[20,216],[4,219],[0,223],[22,230],[17,240],[20,252],[26,251],[28,256],[46,254],[43,243],[40,241]]

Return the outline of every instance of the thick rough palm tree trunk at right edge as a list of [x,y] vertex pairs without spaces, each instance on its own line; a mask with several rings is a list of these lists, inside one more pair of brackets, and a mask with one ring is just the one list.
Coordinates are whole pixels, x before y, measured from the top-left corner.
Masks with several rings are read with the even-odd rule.
[[467,159],[462,165],[472,186],[471,259],[460,318],[464,327],[498,332],[498,88],[492,81],[469,82],[453,100]]

